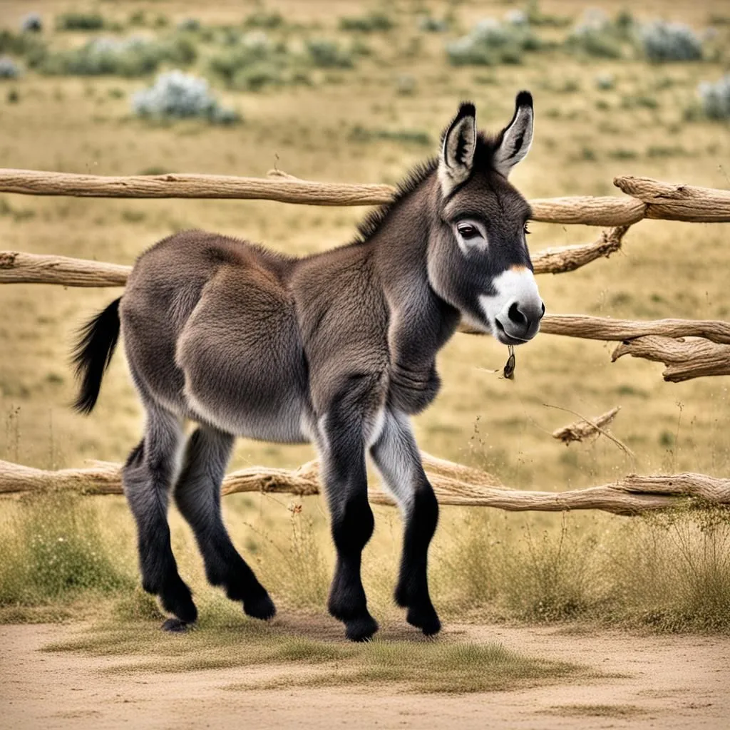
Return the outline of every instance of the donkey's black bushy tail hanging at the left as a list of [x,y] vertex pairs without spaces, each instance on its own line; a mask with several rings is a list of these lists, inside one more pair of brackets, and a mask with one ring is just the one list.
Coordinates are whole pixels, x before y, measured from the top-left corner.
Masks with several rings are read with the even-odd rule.
[[109,367],[114,348],[119,339],[119,299],[115,299],[96,317],[80,329],[79,341],[72,353],[76,377],[81,380],[81,390],[74,401],[74,409],[91,413],[99,398],[101,378]]

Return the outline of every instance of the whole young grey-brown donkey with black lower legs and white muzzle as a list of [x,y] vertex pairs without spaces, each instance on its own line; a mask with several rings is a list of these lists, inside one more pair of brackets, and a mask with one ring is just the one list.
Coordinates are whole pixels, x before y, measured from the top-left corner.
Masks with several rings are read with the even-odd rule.
[[[171,493],[210,583],[247,615],[274,616],[221,519],[220,483],[244,436],[315,444],[337,548],[328,609],[354,641],[377,631],[360,572],[374,526],[369,454],[404,517],[395,600],[412,626],[439,631],[426,576],[439,508],[409,416],[436,397],[435,358],[461,318],[507,345],[537,334],[545,306],[526,245],[530,207],[507,181],[532,130],[527,91],[493,137],[463,103],[439,157],[411,172],[349,245],[290,258],[218,234],[174,234],[142,253],[123,296],[82,329],[74,407],[93,409],[121,331],[146,412],[123,485],[142,585],[172,614],[164,629],[197,618],[170,548]],[[183,448],[188,419],[198,426]]]

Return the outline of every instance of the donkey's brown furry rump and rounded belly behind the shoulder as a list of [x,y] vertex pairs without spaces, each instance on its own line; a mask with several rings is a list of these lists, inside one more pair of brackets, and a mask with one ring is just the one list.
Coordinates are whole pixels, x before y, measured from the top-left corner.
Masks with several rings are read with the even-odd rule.
[[142,398],[227,433],[306,440],[292,267],[293,259],[204,231],[174,234],[143,253],[120,303]]

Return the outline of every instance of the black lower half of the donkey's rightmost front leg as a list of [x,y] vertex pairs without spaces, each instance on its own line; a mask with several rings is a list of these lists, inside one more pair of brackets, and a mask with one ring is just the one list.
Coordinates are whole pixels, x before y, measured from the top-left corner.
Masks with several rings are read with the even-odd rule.
[[395,599],[408,609],[407,621],[424,634],[437,634],[441,622],[429,595],[428,551],[439,519],[439,505],[431,485],[415,491],[407,515],[403,556]]

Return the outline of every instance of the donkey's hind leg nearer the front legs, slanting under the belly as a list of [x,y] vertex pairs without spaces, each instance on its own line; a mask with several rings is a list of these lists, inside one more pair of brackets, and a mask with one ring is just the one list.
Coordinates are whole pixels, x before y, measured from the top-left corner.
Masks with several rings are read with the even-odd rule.
[[269,594],[237,553],[220,515],[220,483],[233,442],[230,434],[210,426],[193,432],[175,487],[175,502],[195,533],[210,583],[223,586],[229,599],[241,601],[247,615],[272,618],[276,609]]

